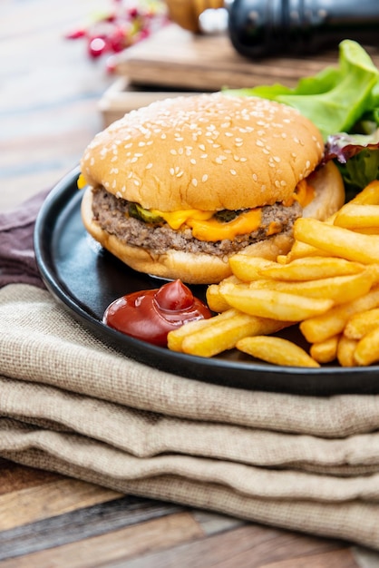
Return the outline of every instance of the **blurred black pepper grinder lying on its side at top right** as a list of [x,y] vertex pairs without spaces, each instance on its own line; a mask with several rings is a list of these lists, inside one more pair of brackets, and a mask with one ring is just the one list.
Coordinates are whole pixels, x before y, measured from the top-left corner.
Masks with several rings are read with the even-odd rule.
[[239,54],[306,55],[351,39],[379,45],[379,0],[231,0],[228,34]]

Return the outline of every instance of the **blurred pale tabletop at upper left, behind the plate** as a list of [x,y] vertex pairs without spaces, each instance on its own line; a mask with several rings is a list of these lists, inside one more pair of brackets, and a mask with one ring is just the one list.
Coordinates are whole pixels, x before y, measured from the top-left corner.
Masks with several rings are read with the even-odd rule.
[[53,186],[100,129],[97,105],[113,78],[65,34],[107,5],[2,0],[0,211]]

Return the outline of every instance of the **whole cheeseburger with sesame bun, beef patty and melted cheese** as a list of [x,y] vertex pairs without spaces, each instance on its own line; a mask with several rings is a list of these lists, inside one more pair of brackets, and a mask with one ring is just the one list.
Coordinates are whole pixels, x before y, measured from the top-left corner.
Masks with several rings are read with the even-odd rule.
[[83,154],[83,224],[132,269],[217,283],[243,251],[276,259],[300,216],[345,200],[324,142],[295,109],[224,93],[180,96],[126,114]]

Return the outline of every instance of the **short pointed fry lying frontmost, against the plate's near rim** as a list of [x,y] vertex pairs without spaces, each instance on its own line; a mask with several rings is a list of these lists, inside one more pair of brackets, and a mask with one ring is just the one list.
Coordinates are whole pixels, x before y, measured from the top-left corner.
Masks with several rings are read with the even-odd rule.
[[267,336],[243,338],[237,342],[236,347],[252,357],[257,357],[274,365],[320,367],[315,359],[310,357],[304,349],[300,348],[296,343],[283,338]]

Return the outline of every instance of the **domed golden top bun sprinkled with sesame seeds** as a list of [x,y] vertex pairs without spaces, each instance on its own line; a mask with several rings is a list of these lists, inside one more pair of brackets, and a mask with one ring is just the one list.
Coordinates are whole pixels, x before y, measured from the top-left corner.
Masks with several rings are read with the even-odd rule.
[[323,152],[320,132],[295,109],[212,93],[126,114],[94,138],[82,172],[145,209],[238,210],[290,199]]

